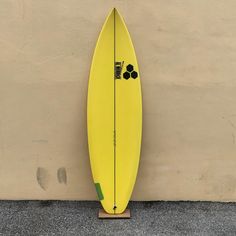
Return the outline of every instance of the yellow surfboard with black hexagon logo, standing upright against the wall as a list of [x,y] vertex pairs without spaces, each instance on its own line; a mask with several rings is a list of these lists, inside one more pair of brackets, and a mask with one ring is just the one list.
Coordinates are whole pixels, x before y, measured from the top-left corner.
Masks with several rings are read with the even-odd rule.
[[123,18],[108,15],[93,55],[87,104],[93,179],[104,210],[122,213],[139,165],[142,97],[137,59]]

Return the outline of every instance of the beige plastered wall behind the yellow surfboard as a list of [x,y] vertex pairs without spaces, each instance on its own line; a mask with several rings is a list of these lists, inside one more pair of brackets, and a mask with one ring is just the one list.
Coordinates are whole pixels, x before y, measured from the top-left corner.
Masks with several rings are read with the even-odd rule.
[[114,6],[142,75],[133,199],[235,201],[235,0],[1,0],[0,198],[96,199],[87,83]]

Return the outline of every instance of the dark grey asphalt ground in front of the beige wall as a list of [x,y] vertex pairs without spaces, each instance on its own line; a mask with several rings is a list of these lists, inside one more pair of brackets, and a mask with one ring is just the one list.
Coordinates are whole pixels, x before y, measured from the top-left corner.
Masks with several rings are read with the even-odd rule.
[[0,235],[236,235],[236,204],[131,202],[131,219],[97,218],[98,202],[0,201]]

